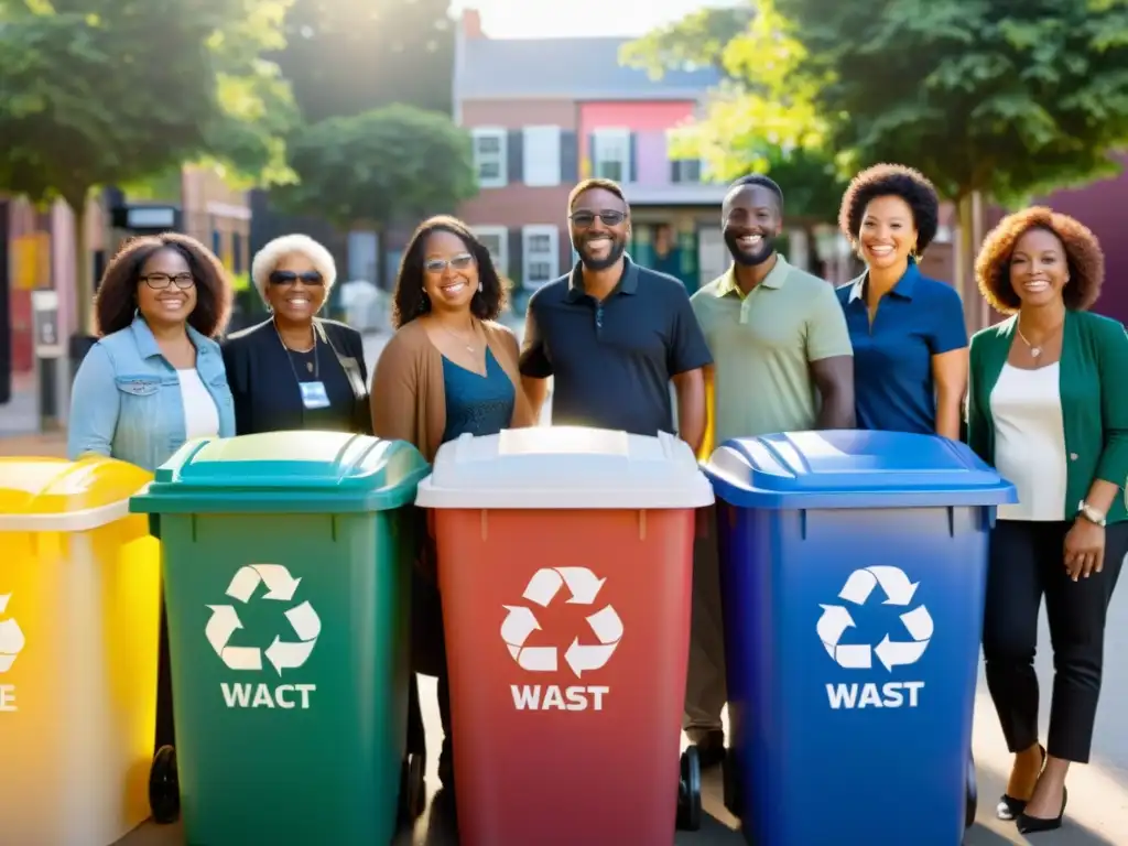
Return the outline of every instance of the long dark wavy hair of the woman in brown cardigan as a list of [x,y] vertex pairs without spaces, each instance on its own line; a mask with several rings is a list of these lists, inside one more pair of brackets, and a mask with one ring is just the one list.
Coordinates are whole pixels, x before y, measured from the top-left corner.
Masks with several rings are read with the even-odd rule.
[[398,329],[431,310],[431,301],[423,290],[423,259],[431,232],[450,232],[462,239],[478,266],[478,281],[482,283],[482,290],[470,300],[470,314],[479,320],[496,320],[505,308],[506,292],[490,250],[458,218],[439,214],[420,223],[404,249],[393,294],[391,325]]

